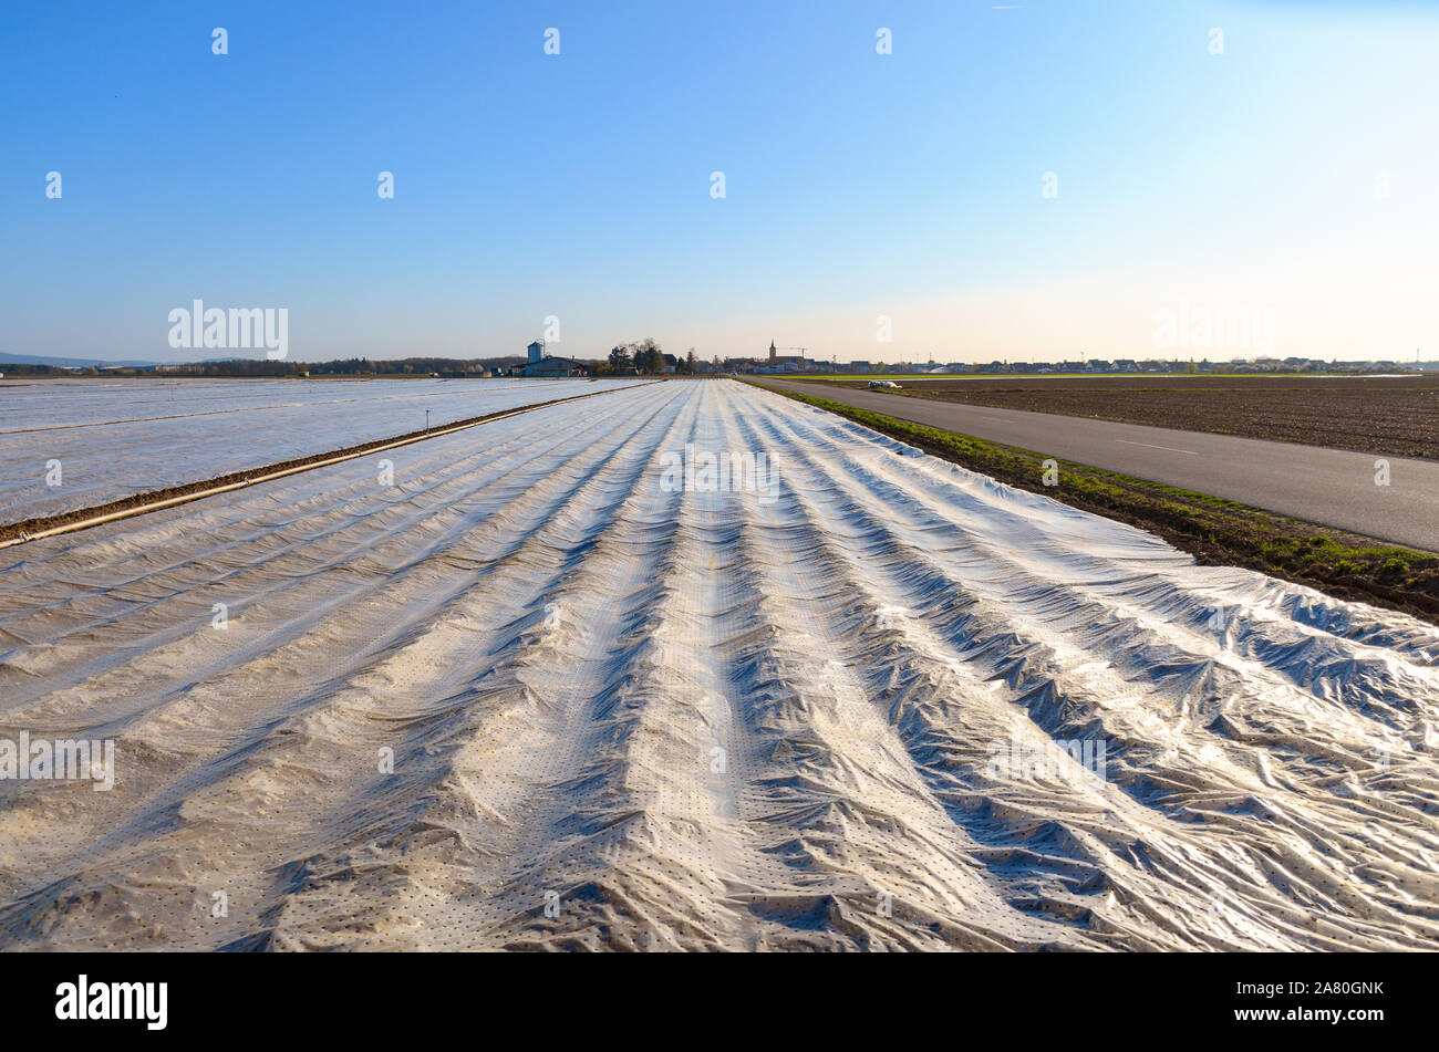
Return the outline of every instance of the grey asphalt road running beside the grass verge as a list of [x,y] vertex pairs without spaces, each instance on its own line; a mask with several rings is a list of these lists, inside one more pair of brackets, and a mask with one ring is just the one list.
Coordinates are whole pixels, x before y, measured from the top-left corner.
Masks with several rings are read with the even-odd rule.
[[1439,461],[1384,457],[1390,484],[1376,486],[1380,457],[1373,453],[934,402],[832,384],[761,382],[1439,552]]

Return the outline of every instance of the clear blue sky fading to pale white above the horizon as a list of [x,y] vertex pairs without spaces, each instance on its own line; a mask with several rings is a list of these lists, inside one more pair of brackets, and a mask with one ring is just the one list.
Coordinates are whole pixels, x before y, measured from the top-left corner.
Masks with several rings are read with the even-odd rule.
[[1439,358],[1432,3],[7,0],[0,112],[13,354]]

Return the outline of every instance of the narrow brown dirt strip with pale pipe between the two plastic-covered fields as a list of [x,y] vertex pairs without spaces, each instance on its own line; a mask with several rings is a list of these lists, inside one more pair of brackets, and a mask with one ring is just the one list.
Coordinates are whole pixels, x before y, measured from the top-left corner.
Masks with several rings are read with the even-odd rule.
[[[655,382],[655,381],[652,381]],[[521,412],[530,412],[532,410],[543,410],[550,405],[563,405],[564,402],[577,402],[583,398],[594,398],[597,395],[614,394],[617,389],[627,388],[610,388],[606,391],[590,391],[589,394],[574,395],[571,398],[555,398],[548,402],[535,402],[534,405],[522,405],[514,410],[499,410],[496,412],[486,412],[479,417],[469,417],[466,420],[458,420],[452,424],[445,424],[443,427],[433,427],[429,431],[407,431],[404,434],[393,435],[390,438],[376,438],[373,441],[360,443],[358,446],[347,446],[340,450],[328,450],[325,453],[314,453],[308,457],[296,457],[294,460],[282,460],[273,464],[263,464],[260,467],[245,469],[240,471],[230,471],[229,474],[216,476],[213,479],[201,479],[193,483],[184,483],[181,486],[168,486],[163,490],[147,490],[144,493],[135,493],[128,497],[119,497],[104,504],[94,504],[91,507],[78,507],[72,512],[60,512],[58,515],[39,516],[35,519],[22,519],[20,522],[0,525],[0,548],[10,548],[13,545],[24,543],[26,540],[39,540],[43,536],[56,536],[59,533],[73,533],[82,529],[89,529],[92,526],[99,526],[106,522],[117,522],[119,519],[131,519],[138,515],[147,515],[150,512],[158,512],[165,507],[174,507],[177,504],[187,504],[193,500],[203,500],[204,497],[216,496],[219,493],[227,493],[237,489],[245,489],[248,486],[258,486],[273,479],[279,479],[289,474],[298,474],[299,471],[312,471],[317,467],[327,467],[330,464],[337,464],[345,460],[355,460],[357,457],[364,457],[371,453],[380,453],[381,450],[391,450],[400,446],[412,446],[414,443],[422,443],[429,438],[440,438],[456,431],[463,431],[479,424],[489,424],[504,417],[517,417]]]

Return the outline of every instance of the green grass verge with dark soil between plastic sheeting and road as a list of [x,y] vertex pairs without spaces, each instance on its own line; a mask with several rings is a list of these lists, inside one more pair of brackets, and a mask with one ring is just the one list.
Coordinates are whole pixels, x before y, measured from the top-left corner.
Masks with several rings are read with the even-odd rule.
[[911,424],[817,395],[764,384],[753,387],[819,407],[1010,486],[1138,526],[1200,563],[1245,566],[1340,599],[1387,606],[1439,624],[1439,556],[1427,552],[1069,460],[1056,458],[1059,484],[1045,486],[1046,457],[1040,453]]

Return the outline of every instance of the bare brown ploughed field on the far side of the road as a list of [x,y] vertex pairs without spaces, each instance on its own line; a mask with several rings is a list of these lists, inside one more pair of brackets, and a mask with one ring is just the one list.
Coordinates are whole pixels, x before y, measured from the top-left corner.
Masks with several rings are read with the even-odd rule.
[[[899,377],[911,398],[1439,458],[1439,375]],[[816,385],[865,387],[863,378]]]

